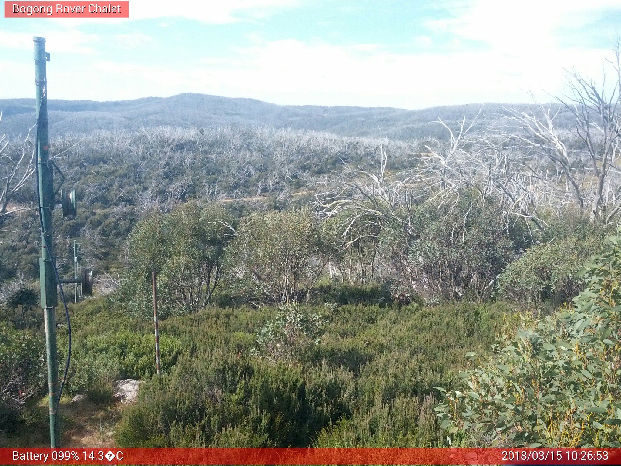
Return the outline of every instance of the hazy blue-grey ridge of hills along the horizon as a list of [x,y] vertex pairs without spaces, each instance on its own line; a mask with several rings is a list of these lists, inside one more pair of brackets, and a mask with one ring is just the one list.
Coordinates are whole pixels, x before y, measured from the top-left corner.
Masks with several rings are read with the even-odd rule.
[[[12,137],[26,134],[34,124],[34,99],[0,99],[0,133]],[[483,104],[404,110],[391,107],[327,107],[270,104],[255,99],[227,98],[206,94],[178,94],[127,101],[48,101],[50,134],[89,133],[95,129],[133,130],[147,126],[211,127],[272,126],[309,129],[350,136],[389,137],[408,140],[423,137],[444,139],[446,131],[438,117],[451,127],[461,118],[473,118]],[[517,107],[533,108],[529,104]],[[485,114],[500,112],[502,104],[484,104]],[[561,123],[568,117],[561,115]],[[561,125],[562,126],[562,125]]]

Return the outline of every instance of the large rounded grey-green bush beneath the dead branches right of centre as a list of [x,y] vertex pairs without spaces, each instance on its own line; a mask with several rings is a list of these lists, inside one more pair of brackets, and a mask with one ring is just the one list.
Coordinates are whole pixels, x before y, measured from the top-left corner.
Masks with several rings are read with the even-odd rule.
[[393,226],[381,236],[404,303],[416,296],[489,299],[499,273],[532,244],[527,224],[508,219],[494,199],[462,193],[438,206],[426,201],[412,212],[412,224]]

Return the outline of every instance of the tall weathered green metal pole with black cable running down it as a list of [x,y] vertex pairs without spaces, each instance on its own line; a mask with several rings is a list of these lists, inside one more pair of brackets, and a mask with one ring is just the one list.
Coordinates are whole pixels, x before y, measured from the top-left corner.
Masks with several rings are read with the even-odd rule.
[[[45,341],[47,346],[48,395],[50,398],[50,444],[60,447],[60,434],[56,422],[56,401],[58,397],[58,362],[56,345],[56,315],[54,307],[58,304],[57,283],[52,268],[53,235],[52,209],[54,185],[52,165],[48,158],[47,132],[47,75],[45,65],[49,55],[45,53],[45,38],[35,37],[35,84],[37,86],[37,169],[39,170],[40,215],[43,221],[41,232],[41,257],[39,274],[41,280],[41,306],[45,316]],[[49,247],[49,250],[48,250]]]

